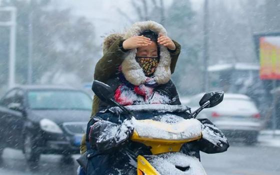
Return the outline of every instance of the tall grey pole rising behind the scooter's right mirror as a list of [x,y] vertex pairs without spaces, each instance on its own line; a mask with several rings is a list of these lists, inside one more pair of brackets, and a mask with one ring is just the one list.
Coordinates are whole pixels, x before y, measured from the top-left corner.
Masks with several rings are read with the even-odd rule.
[[209,39],[209,28],[208,28],[208,0],[204,0],[204,21],[203,21],[203,91],[208,90],[208,39]]

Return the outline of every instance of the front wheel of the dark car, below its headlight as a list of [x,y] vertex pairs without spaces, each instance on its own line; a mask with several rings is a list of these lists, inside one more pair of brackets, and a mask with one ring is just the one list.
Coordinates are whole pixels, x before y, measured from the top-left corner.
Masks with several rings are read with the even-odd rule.
[[40,152],[37,150],[33,135],[30,132],[26,132],[24,135],[23,152],[29,167],[31,169],[37,168]]

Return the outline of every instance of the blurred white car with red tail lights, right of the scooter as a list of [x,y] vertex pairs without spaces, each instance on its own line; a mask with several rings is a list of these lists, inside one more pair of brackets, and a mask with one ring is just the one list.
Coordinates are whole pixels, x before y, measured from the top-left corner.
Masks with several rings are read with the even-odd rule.
[[[193,112],[199,107],[204,93],[190,97],[186,104]],[[246,95],[225,93],[223,101],[215,107],[203,109],[197,118],[208,118],[223,131],[229,140],[243,140],[247,144],[257,141],[262,128],[259,111]]]

